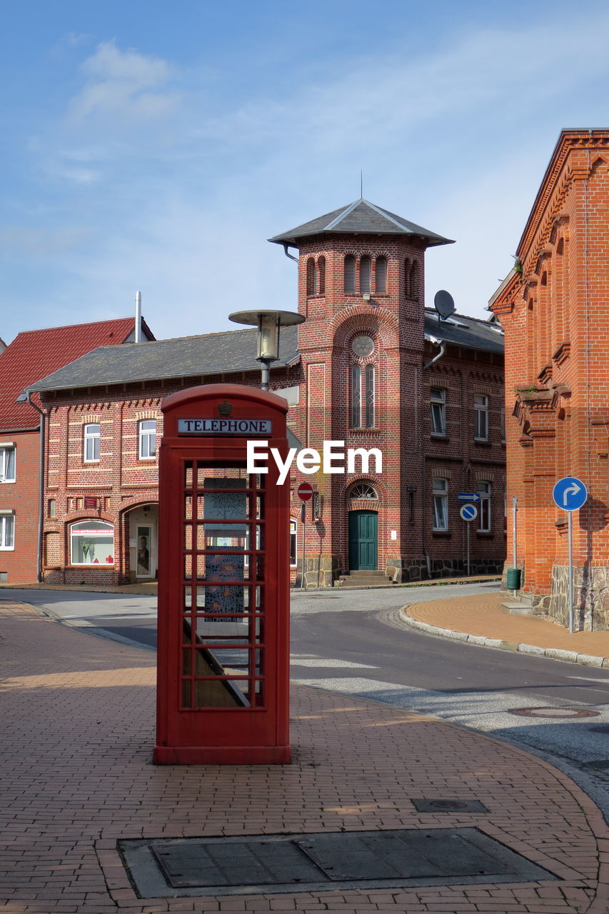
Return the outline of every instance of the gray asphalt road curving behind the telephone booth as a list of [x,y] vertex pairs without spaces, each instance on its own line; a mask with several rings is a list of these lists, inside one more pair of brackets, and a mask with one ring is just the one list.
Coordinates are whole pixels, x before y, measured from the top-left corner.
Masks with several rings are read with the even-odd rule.
[[[292,677],[524,744],[558,761],[609,821],[609,670],[434,637],[398,618],[406,603],[489,589],[497,585],[295,591]],[[154,597],[6,589],[3,597],[33,603],[91,633],[154,649]]]

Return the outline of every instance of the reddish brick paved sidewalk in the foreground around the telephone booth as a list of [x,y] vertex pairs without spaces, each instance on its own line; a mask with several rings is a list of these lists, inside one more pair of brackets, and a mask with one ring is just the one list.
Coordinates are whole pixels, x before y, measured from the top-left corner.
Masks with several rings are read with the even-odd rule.
[[[298,687],[292,765],[155,767],[151,654],[20,603],[0,600],[0,617],[0,911],[609,911],[603,818],[539,759],[433,718]],[[417,813],[417,797],[476,799],[489,812]],[[558,881],[142,900],[116,851],[120,837],[457,825]]]

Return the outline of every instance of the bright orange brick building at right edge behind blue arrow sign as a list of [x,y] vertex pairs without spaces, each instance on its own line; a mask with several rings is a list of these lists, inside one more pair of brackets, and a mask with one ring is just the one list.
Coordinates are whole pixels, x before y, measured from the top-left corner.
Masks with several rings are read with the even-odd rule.
[[[609,628],[609,131],[566,130],[490,301],[506,334],[508,502],[533,611],[567,624],[564,476],[588,488],[573,517],[575,630]],[[508,512],[511,515],[511,512]],[[515,561],[509,516],[508,565]]]

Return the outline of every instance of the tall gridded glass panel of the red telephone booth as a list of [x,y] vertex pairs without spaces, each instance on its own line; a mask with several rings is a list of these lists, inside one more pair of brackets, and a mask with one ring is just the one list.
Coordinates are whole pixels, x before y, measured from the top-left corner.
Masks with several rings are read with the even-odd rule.
[[185,462],[184,710],[264,707],[264,477]]

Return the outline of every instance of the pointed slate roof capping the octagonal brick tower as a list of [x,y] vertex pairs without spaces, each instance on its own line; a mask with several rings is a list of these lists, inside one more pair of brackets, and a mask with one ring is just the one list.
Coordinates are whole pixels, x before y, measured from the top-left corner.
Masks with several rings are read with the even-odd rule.
[[290,244],[298,247],[298,239],[308,235],[411,235],[427,242],[428,247],[439,244],[454,244],[454,241],[436,235],[428,228],[417,226],[408,219],[396,216],[387,209],[375,206],[360,197],[347,207],[335,209],[325,216],[318,216],[304,225],[275,235],[269,241],[275,244]]

